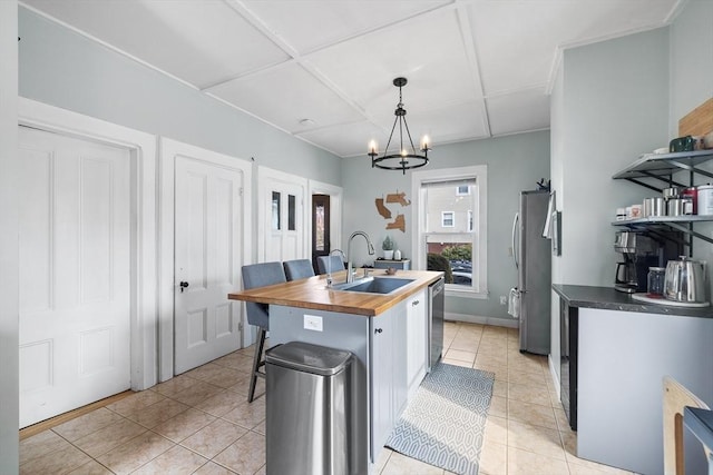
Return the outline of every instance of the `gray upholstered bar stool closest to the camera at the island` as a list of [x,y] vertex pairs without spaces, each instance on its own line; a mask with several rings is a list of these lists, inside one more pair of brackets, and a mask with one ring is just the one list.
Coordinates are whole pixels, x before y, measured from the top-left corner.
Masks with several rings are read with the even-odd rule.
[[[264,263],[243,266],[243,288],[264,287],[273,284],[287,281],[282,263]],[[264,378],[265,373],[260,368],[265,366],[263,350],[265,347],[265,334],[270,330],[270,306],[265,304],[245,303],[247,323],[257,327],[257,342],[255,342],[255,354],[253,356],[253,369],[250,377],[250,390],[247,402],[252,403],[255,396],[255,385],[257,378]]]

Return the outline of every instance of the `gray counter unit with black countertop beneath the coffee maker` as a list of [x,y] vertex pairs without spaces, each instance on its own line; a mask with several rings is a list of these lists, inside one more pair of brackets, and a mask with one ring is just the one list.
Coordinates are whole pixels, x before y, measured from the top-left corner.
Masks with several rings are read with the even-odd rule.
[[[560,297],[561,399],[576,417],[577,456],[663,474],[663,377],[713,404],[713,308],[645,304],[609,287],[553,289]],[[691,434],[685,457],[686,473],[705,473]]]

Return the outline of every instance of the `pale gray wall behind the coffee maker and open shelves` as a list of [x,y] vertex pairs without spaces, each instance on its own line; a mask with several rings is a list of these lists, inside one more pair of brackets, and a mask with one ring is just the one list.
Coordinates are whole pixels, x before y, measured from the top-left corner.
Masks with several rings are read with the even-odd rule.
[[[668,141],[668,29],[566,50],[551,102],[551,169],[561,211],[553,283],[611,287],[617,207],[646,189],[612,175]],[[553,293],[550,365],[559,378],[559,300]]]

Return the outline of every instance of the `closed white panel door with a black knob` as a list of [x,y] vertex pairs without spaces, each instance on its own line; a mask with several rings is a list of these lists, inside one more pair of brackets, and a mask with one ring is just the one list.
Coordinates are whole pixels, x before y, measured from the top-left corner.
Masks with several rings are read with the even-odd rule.
[[175,156],[175,374],[241,348],[240,169]]

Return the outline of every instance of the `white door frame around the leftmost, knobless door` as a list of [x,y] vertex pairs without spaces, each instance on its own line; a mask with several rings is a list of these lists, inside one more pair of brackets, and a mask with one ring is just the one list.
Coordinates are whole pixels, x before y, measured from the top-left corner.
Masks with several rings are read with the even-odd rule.
[[143,390],[157,382],[156,345],[156,139],[94,117],[18,98],[18,126],[76,137],[130,154],[130,385]]

